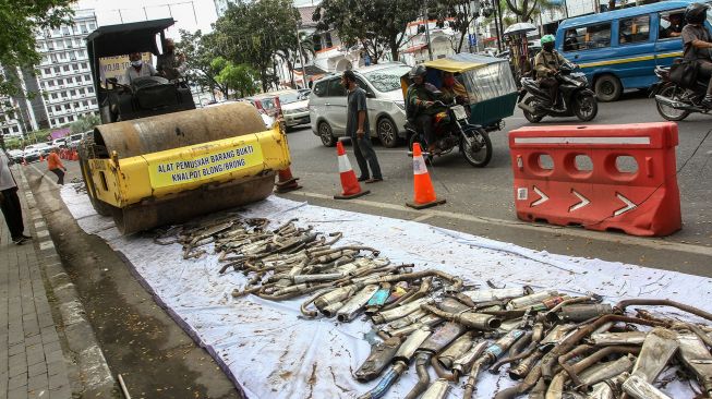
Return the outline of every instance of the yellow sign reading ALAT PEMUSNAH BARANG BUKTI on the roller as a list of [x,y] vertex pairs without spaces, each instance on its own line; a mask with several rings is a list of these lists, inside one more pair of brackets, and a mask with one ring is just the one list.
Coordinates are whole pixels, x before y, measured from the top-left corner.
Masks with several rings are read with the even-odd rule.
[[252,142],[190,158],[149,161],[148,174],[150,185],[158,189],[208,180],[262,164],[262,146]]

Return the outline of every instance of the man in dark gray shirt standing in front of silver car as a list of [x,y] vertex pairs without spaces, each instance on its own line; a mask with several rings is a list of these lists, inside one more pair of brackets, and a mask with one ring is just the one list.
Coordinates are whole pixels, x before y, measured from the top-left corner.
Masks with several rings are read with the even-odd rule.
[[[359,162],[359,169],[361,169],[359,181],[366,183],[383,181],[378,158],[376,152],[373,150],[373,144],[371,144],[366,92],[357,85],[355,74],[352,71],[343,71],[341,84],[348,93],[346,134],[351,137],[353,154]],[[371,173],[369,173],[369,167],[371,167]]]

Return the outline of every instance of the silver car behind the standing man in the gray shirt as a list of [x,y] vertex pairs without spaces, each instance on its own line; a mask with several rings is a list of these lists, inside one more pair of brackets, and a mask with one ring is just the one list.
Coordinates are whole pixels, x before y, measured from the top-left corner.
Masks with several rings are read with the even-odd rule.
[[[354,70],[357,84],[366,90],[371,136],[381,140],[385,147],[395,147],[406,138],[406,105],[400,87],[400,76],[410,71],[398,62],[376,64]],[[341,75],[335,74],[314,82],[309,96],[309,116],[312,132],[327,147],[336,145],[346,135],[346,89]]]

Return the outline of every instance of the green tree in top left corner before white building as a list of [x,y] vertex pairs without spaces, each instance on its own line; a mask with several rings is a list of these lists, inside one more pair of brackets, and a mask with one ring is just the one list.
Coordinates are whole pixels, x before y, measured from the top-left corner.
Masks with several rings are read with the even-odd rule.
[[17,68],[32,68],[40,62],[35,37],[47,28],[71,21],[73,0],[2,0],[0,1],[0,95],[23,95]]

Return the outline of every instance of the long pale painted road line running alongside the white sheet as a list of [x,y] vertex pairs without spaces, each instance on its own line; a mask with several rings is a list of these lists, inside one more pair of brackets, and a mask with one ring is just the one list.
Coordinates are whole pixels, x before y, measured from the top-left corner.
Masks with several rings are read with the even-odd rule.
[[[303,191],[293,192],[286,196],[292,196],[292,197],[302,196],[302,197],[311,197],[317,200],[327,200],[330,203],[334,202],[334,198],[330,195],[310,193]],[[486,216],[472,216],[467,214],[458,214],[449,210],[438,210],[438,209],[415,210],[415,209],[408,208],[405,205],[377,203],[367,200],[350,200],[349,203],[365,205],[378,209],[390,209],[390,210],[399,210],[408,214],[419,214],[421,216],[432,215],[432,217],[439,216],[444,218],[471,221],[481,225],[506,226],[515,229],[532,230],[539,232],[545,230],[550,233],[576,237],[576,238],[581,238],[587,240],[605,241],[605,242],[612,242],[612,243],[625,244],[625,245],[645,246],[649,249],[660,250],[660,251],[677,251],[677,252],[684,252],[689,254],[712,256],[712,247],[685,244],[685,243],[673,242],[673,241],[665,241],[661,239],[647,239],[647,238],[618,235],[618,234],[614,235],[612,233],[605,233],[600,231],[582,230],[582,229],[557,227],[557,226],[550,226],[550,225],[527,223],[527,222],[516,221],[516,220],[490,218]]]

